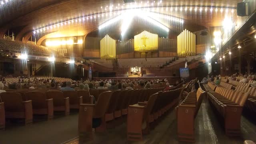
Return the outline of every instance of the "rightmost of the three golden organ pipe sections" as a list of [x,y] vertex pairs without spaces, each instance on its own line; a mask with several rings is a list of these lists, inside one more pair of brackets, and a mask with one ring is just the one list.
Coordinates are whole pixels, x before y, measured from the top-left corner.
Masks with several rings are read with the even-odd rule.
[[195,56],[196,55],[196,35],[188,30],[177,37],[177,55],[178,57]]

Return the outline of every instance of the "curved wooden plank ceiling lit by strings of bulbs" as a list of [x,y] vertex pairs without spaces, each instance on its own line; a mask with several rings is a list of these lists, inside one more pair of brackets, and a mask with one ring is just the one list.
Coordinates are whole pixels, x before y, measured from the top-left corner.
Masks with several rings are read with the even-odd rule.
[[[138,3],[147,3],[149,1],[149,7],[151,2],[154,0],[134,0]],[[156,3],[160,0],[155,0]],[[223,13],[208,12],[176,12],[173,10],[166,11],[164,8],[168,7],[180,7],[180,6],[197,6],[203,8],[206,6],[208,9],[213,7],[224,8],[236,8],[236,4],[242,0],[162,0],[160,6],[154,4],[154,7],[159,7],[160,10],[154,10],[159,13],[168,14],[171,16],[176,16],[178,18],[183,18],[186,25],[193,24],[195,26],[204,26],[209,28],[211,26],[220,26],[224,18]],[[32,32],[34,29],[48,26],[50,24],[63,22],[65,20],[70,20],[80,16],[94,16],[94,14],[101,14],[102,12],[108,12],[109,10],[104,10],[105,6],[110,6],[113,4],[123,4],[123,0],[12,0],[8,4],[0,9],[0,26],[8,25],[10,28],[15,28],[18,26],[26,26],[28,32]],[[101,6],[103,8],[101,8]],[[161,8],[163,7],[164,10]],[[231,9],[230,9],[231,10]],[[114,10],[113,10],[114,12]],[[110,16],[104,18],[92,18],[92,20],[86,20],[81,24],[70,24],[70,26],[63,26],[58,30],[53,29],[49,32],[57,33],[62,36],[76,36],[76,35],[86,35],[95,28],[99,26],[102,22],[111,18]],[[24,33],[28,33],[24,32]],[[50,34],[52,36],[54,34]]]

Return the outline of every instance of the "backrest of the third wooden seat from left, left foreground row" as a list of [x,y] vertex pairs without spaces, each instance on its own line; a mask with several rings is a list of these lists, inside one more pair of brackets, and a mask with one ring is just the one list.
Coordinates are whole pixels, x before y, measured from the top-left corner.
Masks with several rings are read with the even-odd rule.
[[53,105],[54,106],[64,106],[65,101],[64,101],[64,96],[63,92],[59,90],[49,90],[46,92],[47,99],[52,98],[53,99]]

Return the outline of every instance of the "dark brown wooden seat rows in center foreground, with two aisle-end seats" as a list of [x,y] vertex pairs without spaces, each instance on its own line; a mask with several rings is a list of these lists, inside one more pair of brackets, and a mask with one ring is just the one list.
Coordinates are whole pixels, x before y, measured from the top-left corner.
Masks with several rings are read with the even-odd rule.
[[[183,83],[172,88],[182,89]],[[162,116],[173,104],[178,102],[180,92],[164,88],[106,91],[99,94],[96,104],[80,104],[78,130],[90,139],[92,128],[104,132],[114,127],[120,119],[127,116],[127,138],[142,140],[142,131],[149,132],[148,124]],[[175,101],[172,101],[175,99]],[[114,123],[114,124],[113,124]],[[134,138],[134,131],[137,133]]]

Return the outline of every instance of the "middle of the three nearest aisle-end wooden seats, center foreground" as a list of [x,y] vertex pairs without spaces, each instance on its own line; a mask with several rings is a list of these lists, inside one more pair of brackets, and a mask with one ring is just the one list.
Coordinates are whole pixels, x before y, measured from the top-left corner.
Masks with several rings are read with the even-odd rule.
[[142,131],[149,132],[149,116],[158,93],[152,94],[148,102],[128,106],[127,138],[128,140],[142,140]]

